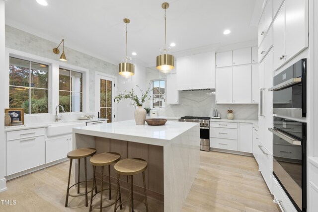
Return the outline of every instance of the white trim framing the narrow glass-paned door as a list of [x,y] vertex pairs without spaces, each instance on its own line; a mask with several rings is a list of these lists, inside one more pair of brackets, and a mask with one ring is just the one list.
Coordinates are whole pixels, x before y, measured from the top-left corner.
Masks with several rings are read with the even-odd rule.
[[99,111],[99,108],[97,107],[99,104],[97,102],[97,99],[100,98],[99,96],[99,92],[98,92],[98,88],[99,88],[99,77],[102,76],[102,77],[106,77],[106,78],[109,78],[113,83],[114,83],[114,87],[112,88],[112,112],[113,114],[115,115],[115,118],[112,117],[112,122],[116,122],[117,121],[117,102],[114,102],[113,99],[115,98],[116,94],[117,94],[117,76],[114,76],[114,75],[110,75],[110,74],[107,74],[107,73],[102,73],[102,72],[98,72],[98,71],[95,71],[95,117],[98,117],[97,116],[97,112]]

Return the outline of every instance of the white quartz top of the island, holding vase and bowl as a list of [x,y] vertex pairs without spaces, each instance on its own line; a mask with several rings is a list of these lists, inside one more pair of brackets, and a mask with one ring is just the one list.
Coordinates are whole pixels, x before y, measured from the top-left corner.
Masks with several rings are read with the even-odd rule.
[[73,133],[164,145],[165,142],[162,141],[170,141],[195,126],[199,128],[199,123],[167,121],[162,126],[151,126],[147,123],[145,125],[136,125],[135,120],[128,120],[107,123],[106,125],[77,127],[73,129]]

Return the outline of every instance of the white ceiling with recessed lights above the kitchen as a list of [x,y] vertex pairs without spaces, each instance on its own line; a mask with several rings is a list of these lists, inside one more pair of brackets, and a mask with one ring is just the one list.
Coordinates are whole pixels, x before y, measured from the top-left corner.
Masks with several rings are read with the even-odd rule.
[[[262,0],[169,0],[167,45],[172,54],[207,46],[224,46],[257,39]],[[59,44],[118,64],[128,56],[154,66],[164,46],[164,0],[7,0],[5,23]],[[254,14],[253,14],[254,12]],[[256,21],[255,21],[256,20]],[[229,35],[223,31],[230,29]],[[53,49],[54,47],[52,47]],[[132,56],[132,52],[137,52]],[[54,54],[52,52],[52,54]],[[67,51],[66,51],[67,55]]]

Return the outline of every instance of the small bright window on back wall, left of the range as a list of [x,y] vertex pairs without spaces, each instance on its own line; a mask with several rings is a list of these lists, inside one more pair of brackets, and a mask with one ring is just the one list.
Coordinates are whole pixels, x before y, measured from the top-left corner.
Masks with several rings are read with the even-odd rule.
[[153,81],[153,108],[164,108],[165,81]]

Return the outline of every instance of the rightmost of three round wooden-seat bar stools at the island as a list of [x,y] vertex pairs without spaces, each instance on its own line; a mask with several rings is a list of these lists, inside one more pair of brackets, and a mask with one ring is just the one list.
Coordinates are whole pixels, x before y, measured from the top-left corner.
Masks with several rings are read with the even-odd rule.
[[[145,170],[147,169],[148,163],[146,160],[142,158],[126,158],[118,161],[114,169],[117,173],[117,192],[116,192],[116,200],[115,200],[115,208],[114,212],[117,211],[117,208],[121,206],[123,203],[129,201],[129,211],[134,211],[134,200],[140,201],[146,206],[146,211],[148,212],[148,202],[147,202],[147,194],[146,194],[146,181],[145,181]],[[143,181],[144,181],[144,193],[145,193],[145,202],[143,200],[134,199],[134,190],[133,190],[133,175],[143,173]],[[119,177],[120,175],[129,176],[129,200],[126,200],[120,203],[117,206],[117,194],[118,190],[120,191],[119,185]],[[121,208],[120,208],[121,209]]]

